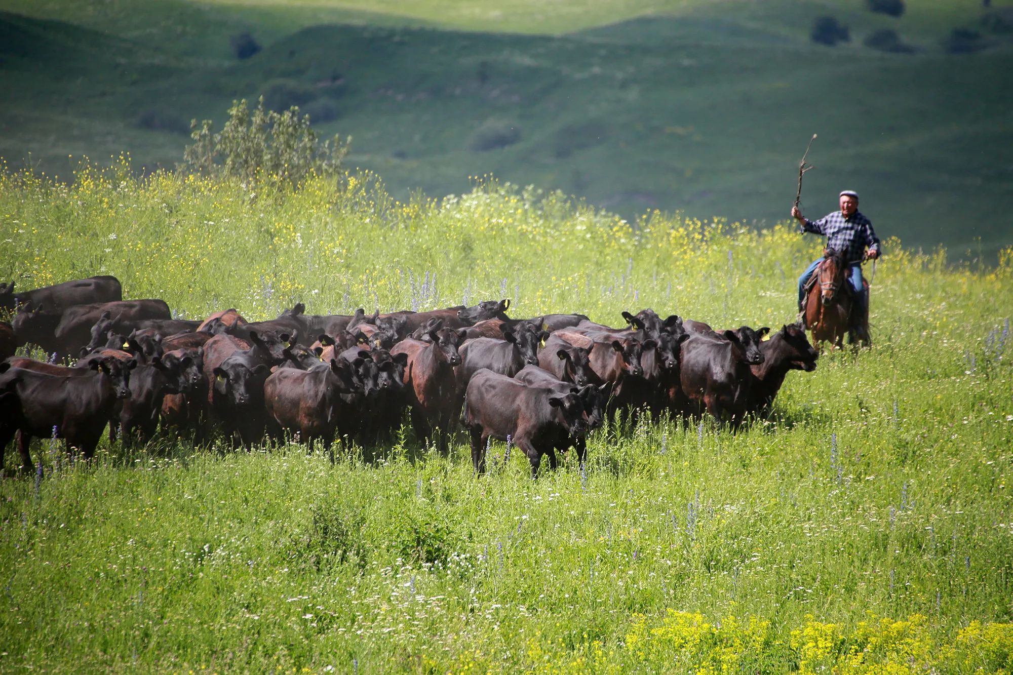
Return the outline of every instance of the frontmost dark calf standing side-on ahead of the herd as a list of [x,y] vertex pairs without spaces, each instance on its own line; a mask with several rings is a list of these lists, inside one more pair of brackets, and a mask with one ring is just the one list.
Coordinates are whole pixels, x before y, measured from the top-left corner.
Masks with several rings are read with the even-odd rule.
[[508,437],[528,457],[531,476],[538,475],[542,455],[557,466],[556,449],[568,447],[588,433],[588,416],[579,393],[558,394],[515,379],[480,370],[468,383],[461,424],[471,437],[475,473],[485,472],[485,443]]

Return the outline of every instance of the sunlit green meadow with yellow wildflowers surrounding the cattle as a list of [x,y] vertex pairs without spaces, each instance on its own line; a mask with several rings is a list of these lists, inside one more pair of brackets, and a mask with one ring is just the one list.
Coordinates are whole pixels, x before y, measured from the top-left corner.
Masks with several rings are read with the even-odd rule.
[[[494,179],[398,201],[370,173],[75,178],[0,172],[3,274],[113,274],[185,317],[510,297],[776,329],[821,244]],[[0,481],[0,670],[1010,672],[1013,251],[884,248],[871,349],[790,374],[734,435],[601,430],[586,472],[568,453],[532,481],[494,443],[476,479],[463,436],[442,455],[408,427],[333,464],[162,436],[83,465],[45,441],[42,480]]]

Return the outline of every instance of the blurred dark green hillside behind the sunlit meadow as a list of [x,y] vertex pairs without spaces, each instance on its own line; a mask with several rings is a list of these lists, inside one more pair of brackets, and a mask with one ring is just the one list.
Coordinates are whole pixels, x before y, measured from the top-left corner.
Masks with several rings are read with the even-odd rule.
[[[492,173],[627,220],[657,208],[771,226],[817,133],[808,215],[851,188],[881,236],[995,261],[1013,69],[1009,35],[981,21],[1013,0],[908,5],[892,18],[860,0],[0,0],[0,87],[16,92],[0,102],[0,156],[64,177],[125,150],[172,167],[191,119],[220,125],[232,99],[265,93],[350,134],[350,165],[398,199]],[[811,43],[821,14],[851,42]],[[882,28],[918,52],[865,47]],[[945,54],[953,28],[987,49]],[[229,39],[244,30],[263,50],[239,61]]]

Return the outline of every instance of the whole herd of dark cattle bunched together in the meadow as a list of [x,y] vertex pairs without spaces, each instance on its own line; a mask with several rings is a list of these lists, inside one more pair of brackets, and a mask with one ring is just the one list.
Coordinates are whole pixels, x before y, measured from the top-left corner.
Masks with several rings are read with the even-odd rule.
[[[377,442],[410,410],[416,436],[446,448],[460,423],[475,470],[488,438],[513,442],[533,474],[555,450],[586,456],[606,419],[766,415],[789,370],[817,353],[785,325],[715,331],[700,321],[623,312],[625,327],[582,314],[511,318],[509,300],[425,312],[306,314],[268,321],[235,310],[173,319],[162,300],[123,300],[113,277],[15,293],[0,284],[0,467],[17,437],[34,471],[32,437],[62,438],[84,457],[110,438],[147,440],[165,428],[194,443],[220,432],[249,447],[269,436]],[[48,362],[14,356],[35,345]],[[67,367],[58,361],[76,359]]]

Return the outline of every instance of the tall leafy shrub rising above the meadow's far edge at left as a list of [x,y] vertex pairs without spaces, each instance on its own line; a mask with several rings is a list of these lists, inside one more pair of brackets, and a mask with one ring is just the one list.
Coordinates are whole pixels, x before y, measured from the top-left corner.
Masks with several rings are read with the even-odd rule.
[[182,170],[226,175],[243,181],[255,178],[300,183],[313,173],[340,175],[341,160],[352,138],[319,142],[308,115],[298,107],[284,113],[265,110],[261,97],[250,114],[246,99],[233,101],[221,132],[212,121],[190,123],[193,144],[183,152]]

